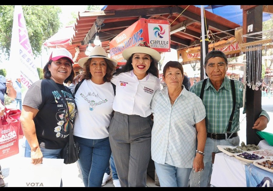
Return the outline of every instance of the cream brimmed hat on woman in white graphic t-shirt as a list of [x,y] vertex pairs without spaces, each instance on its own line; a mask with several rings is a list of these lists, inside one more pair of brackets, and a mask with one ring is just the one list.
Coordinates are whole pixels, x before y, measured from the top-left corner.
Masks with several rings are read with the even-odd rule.
[[105,50],[101,46],[95,46],[89,53],[88,57],[79,59],[78,64],[80,65],[80,67],[84,68],[83,65],[89,58],[105,58],[107,60],[110,60],[114,66],[117,65],[117,61],[115,59],[108,58]]

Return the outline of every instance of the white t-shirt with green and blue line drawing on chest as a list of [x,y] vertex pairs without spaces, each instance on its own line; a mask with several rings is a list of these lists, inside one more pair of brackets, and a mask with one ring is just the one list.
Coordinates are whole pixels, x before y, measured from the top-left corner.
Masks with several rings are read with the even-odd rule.
[[[72,93],[76,85],[71,84]],[[111,82],[98,85],[84,80],[75,94],[78,113],[73,135],[86,139],[103,139],[109,136],[113,112],[114,90]]]

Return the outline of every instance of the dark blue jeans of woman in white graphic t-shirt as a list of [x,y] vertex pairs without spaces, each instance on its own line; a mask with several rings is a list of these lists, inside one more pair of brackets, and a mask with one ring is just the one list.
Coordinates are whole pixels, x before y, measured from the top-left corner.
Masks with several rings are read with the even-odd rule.
[[86,139],[74,136],[81,148],[79,166],[83,174],[85,187],[101,187],[104,172],[109,166],[111,147],[109,137],[104,139]]

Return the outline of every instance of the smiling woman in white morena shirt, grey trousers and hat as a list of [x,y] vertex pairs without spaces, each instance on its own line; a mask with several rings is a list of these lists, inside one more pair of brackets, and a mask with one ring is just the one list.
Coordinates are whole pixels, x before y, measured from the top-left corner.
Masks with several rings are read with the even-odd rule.
[[161,56],[139,42],[122,53],[127,60],[111,82],[116,85],[109,140],[121,187],[145,187],[151,154],[150,103],[160,89]]

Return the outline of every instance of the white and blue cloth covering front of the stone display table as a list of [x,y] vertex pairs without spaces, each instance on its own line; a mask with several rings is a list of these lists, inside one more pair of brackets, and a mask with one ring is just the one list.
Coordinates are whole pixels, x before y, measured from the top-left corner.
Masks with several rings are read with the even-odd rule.
[[273,187],[273,173],[234,156],[215,154],[211,184],[216,187]]

